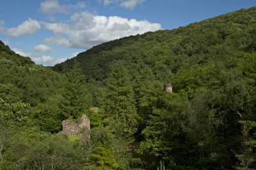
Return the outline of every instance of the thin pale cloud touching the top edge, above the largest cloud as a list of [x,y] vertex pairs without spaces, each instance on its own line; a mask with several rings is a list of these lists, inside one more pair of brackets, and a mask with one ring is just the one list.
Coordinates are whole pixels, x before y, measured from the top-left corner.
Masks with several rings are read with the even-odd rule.
[[45,2],[40,3],[40,11],[47,14],[54,13],[69,13],[70,10],[84,8],[85,3],[77,4],[60,4],[58,0],[46,0]]

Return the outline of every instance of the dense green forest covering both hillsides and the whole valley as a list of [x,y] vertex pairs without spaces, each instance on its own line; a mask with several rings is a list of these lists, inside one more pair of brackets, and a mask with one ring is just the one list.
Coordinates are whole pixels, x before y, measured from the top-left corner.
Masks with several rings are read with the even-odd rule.
[[[0,169],[256,168],[256,8],[103,43],[60,73],[3,43],[0,62]],[[58,133],[83,113],[90,139]]]

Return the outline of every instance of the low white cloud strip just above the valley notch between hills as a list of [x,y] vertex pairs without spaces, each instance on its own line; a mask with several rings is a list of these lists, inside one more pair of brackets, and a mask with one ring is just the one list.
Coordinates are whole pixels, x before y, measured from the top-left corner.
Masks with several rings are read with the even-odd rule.
[[57,58],[51,57],[49,55],[38,56],[35,53],[22,52],[22,50],[19,50],[18,48],[13,48],[13,52],[19,53],[19,55],[25,57],[30,57],[30,59],[33,60],[36,64],[42,64],[44,66],[54,66],[57,63],[64,62],[65,60],[67,60],[67,58]]

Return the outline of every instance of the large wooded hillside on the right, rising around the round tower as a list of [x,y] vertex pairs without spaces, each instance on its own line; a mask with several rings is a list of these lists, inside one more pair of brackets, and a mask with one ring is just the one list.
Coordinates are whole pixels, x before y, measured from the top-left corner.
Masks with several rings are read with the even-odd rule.
[[[256,167],[255,7],[116,39],[53,69],[74,60],[106,125],[136,138],[148,169]],[[164,94],[163,83],[173,93]]]

